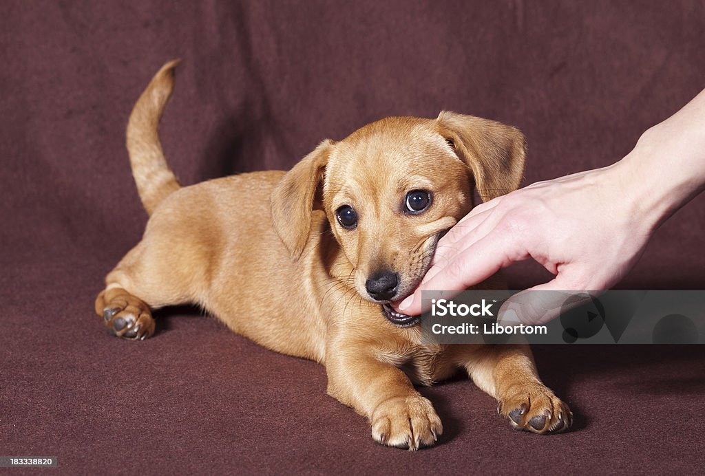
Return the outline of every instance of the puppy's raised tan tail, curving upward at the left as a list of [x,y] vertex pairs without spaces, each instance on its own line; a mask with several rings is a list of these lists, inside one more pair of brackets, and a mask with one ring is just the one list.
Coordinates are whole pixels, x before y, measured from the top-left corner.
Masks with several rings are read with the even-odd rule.
[[174,86],[174,68],[180,60],[169,61],[149,82],[130,114],[127,146],[133,177],[147,214],[171,192],[180,189],[176,176],[166,165],[159,143],[159,120]]

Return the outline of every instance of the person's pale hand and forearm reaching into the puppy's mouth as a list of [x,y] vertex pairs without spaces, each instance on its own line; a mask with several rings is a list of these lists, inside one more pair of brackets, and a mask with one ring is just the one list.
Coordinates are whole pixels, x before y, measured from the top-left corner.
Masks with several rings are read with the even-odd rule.
[[[705,90],[646,130],[617,163],[537,182],[473,208],[439,241],[419,287],[395,307],[419,314],[422,291],[460,292],[529,258],[554,275],[531,289],[610,289],[637,263],[651,234],[703,189]],[[556,314],[518,317],[540,324]]]

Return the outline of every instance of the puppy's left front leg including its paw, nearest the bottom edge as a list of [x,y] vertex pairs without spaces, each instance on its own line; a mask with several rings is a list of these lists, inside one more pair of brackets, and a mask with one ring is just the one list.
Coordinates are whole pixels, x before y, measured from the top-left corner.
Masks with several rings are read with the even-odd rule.
[[443,432],[441,419],[404,372],[360,346],[345,345],[328,355],[328,393],[369,419],[372,438],[412,451],[434,444]]

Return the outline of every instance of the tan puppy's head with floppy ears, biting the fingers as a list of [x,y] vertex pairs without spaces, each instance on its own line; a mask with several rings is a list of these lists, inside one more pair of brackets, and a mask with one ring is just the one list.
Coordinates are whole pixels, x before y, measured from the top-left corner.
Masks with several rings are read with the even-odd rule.
[[519,186],[525,139],[508,125],[442,112],[435,120],[385,118],[340,142],[327,140],[294,166],[271,196],[279,237],[294,258],[322,209],[355,289],[399,326],[417,318],[388,305],[427,272],[439,237],[472,208]]

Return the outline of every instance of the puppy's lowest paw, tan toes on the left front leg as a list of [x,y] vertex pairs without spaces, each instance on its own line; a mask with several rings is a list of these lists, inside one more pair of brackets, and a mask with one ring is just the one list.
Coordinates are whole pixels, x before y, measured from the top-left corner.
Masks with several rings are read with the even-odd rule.
[[372,438],[410,451],[434,444],[443,433],[433,405],[420,395],[388,399],[375,409],[370,420]]

